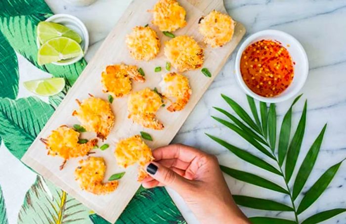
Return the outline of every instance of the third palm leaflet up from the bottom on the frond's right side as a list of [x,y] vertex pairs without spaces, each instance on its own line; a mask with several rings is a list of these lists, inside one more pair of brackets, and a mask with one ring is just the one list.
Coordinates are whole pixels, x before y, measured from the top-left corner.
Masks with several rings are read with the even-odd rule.
[[299,193],[301,192],[301,190],[303,189],[304,184],[312,171],[313,165],[315,165],[318,152],[321,148],[326,127],[327,127],[327,124],[324,125],[324,127],[322,128],[322,131],[316,138],[315,142],[312,144],[311,148],[309,149],[309,151],[307,152],[303,160],[303,163],[301,165],[301,168],[298,171],[298,174],[293,186],[293,193],[292,193],[293,199],[296,199]]

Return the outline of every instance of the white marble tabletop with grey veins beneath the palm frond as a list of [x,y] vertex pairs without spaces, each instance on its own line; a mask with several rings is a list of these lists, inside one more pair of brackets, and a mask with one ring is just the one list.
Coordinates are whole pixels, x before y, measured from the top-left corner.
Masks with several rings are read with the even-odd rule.
[[[90,48],[86,58],[90,60],[102,40],[121,17],[130,0],[97,0],[94,4],[86,7],[73,7],[61,0],[46,0],[46,2],[54,13],[75,15],[86,24],[90,34]],[[245,25],[248,31],[247,36],[264,29],[282,30],[296,37],[306,50],[310,71],[301,91],[304,94],[303,99],[308,100],[306,132],[301,154],[304,155],[307,152],[324,123],[328,123],[328,128],[315,169],[303,189],[305,192],[328,167],[346,157],[346,1],[225,0],[225,6],[235,20]],[[238,87],[234,76],[234,54],[190,114],[173,142],[191,145],[214,153],[223,165],[245,171],[251,170],[251,172],[275,181],[276,179],[272,175],[268,176],[259,168],[241,161],[205,136],[204,133],[208,132],[228,139],[234,145],[254,151],[239,136],[218,125],[210,118],[210,115],[217,114],[212,106],[227,108],[227,105],[220,98],[220,93],[230,96],[247,108],[245,94]],[[279,118],[282,118],[290,103],[291,100],[277,105]],[[294,128],[302,108],[303,100],[297,104],[294,110]],[[298,165],[301,164],[303,157],[299,157]],[[13,163],[15,162],[13,161]],[[16,175],[23,176],[23,173],[12,175],[15,178]],[[31,176],[28,175],[26,178],[30,179]],[[272,193],[272,191],[245,184],[230,177],[226,177],[226,180],[232,193],[267,197],[289,204],[289,198],[283,194]],[[280,179],[277,181],[277,183],[283,184]],[[28,189],[28,187],[25,186],[24,188]],[[3,188],[5,196],[9,196],[12,189],[9,189],[9,186]],[[300,216],[300,220],[319,211],[337,207],[345,208],[345,192],[346,164],[343,164],[325,193]],[[198,223],[181,198],[172,191],[170,193],[188,223]],[[15,196],[19,197],[24,194],[24,191],[16,191]],[[302,195],[297,201],[300,201],[301,198]],[[19,207],[20,203],[11,206]],[[267,212],[248,208],[242,208],[242,210],[248,216],[293,218],[293,214],[287,212]],[[15,212],[8,211],[10,223],[15,222],[15,215]],[[339,215],[325,223],[345,224],[346,214]]]

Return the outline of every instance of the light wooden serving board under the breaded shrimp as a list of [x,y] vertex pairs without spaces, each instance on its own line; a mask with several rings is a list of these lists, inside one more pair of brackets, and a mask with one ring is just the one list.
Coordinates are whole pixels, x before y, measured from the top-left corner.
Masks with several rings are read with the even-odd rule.
[[[125,170],[126,174],[120,180],[118,189],[111,194],[93,195],[81,190],[74,178],[74,170],[81,158],[68,160],[64,169],[60,171],[59,165],[62,163],[63,159],[57,156],[48,156],[46,153],[47,150],[39,139],[47,137],[52,130],[56,129],[60,125],[66,124],[68,126],[73,126],[73,124],[79,123],[77,118],[71,115],[73,110],[77,108],[75,99],[83,100],[87,98],[88,93],[90,93],[95,97],[107,100],[107,94],[102,92],[100,82],[101,72],[107,65],[124,62],[130,65],[137,65],[138,68],[141,67],[146,74],[146,81],[145,83],[133,82],[133,91],[138,91],[145,87],[151,89],[158,87],[162,75],[166,73],[164,68],[167,59],[163,53],[163,46],[164,42],[170,38],[163,36],[162,32],[151,24],[152,14],[147,12],[147,10],[152,9],[156,1],[157,0],[133,0],[130,3],[130,6],[125,11],[113,31],[104,40],[102,46],[88,63],[86,69],[69,90],[63,102],[48,120],[39,136],[22,158],[22,161],[37,173],[41,174],[56,186],[61,187],[67,193],[81,201],[91,210],[95,211],[111,223],[114,223],[118,219],[140,186],[140,183],[136,181],[137,167],[131,166]],[[168,145],[172,141],[176,132],[180,129],[189,113],[193,110],[199,99],[207,90],[208,86],[212,83],[213,79],[225,64],[229,55],[245,34],[245,28],[243,25],[237,23],[233,39],[221,48],[212,49],[202,42],[202,37],[198,33],[198,20],[201,16],[207,15],[213,9],[226,12],[222,0],[179,0],[179,3],[186,10],[187,26],[174,32],[174,34],[176,36],[193,36],[200,45],[204,47],[205,62],[203,67],[208,68],[212,73],[212,77],[208,78],[204,76],[200,69],[184,73],[184,75],[189,78],[192,88],[190,101],[181,112],[169,112],[166,110],[167,106],[166,108],[159,110],[157,117],[165,125],[164,130],[161,131],[146,129],[137,124],[133,124],[127,118],[128,97],[125,96],[115,99],[112,104],[112,110],[115,113],[116,121],[110,135],[107,140],[104,141],[104,143],[110,145],[110,148],[104,151],[96,149],[96,153],[92,154],[93,156],[102,156],[105,159],[107,165],[105,180],[108,180],[108,178],[114,173],[124,171],[124,169],[116,165],[116,159],[113,154],[115,145],[119,139],[139,134],[140,131],[145,131],[154,139],[152,142],[147,142],[149,147],[152,149]],[[150,27],[157,32],[161,41],[161,50],[154,60],[151,60],[150,62],[137,62],[130,57],[125,44],[125,37],[130,33],[133,27],[144,26],[145,24],[149,24]],[[154,72],[154,68],[157,66],[163,68],[162,72]],[[174,71],[174,69],[172,68],[171,71]],[[90,139],[93,137],[95,137],[94,133],[83,133],[81,135],[81,138]],[[104,143],[99,141],[98,145],[101,146]]]

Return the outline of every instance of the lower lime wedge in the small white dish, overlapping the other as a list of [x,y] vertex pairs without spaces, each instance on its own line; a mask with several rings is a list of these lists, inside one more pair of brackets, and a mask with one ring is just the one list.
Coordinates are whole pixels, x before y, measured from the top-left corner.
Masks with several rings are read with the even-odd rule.
[[39,49],[38,63],[44,65],[83,55],[81,45],[68,37],[55,37],[47,40]]

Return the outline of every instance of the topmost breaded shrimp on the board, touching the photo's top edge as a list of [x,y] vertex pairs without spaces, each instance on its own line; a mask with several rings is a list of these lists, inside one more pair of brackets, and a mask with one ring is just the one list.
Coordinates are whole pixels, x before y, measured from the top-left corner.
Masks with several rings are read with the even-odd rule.
[[149,12],[153,13],[152,23],[160,31],[173,32],[186,25],[186,11],[176,0],[159,0]]

